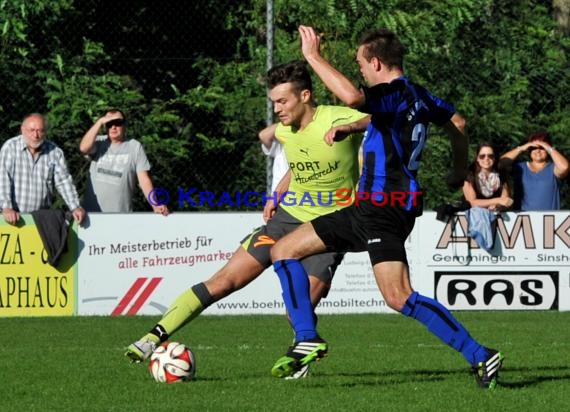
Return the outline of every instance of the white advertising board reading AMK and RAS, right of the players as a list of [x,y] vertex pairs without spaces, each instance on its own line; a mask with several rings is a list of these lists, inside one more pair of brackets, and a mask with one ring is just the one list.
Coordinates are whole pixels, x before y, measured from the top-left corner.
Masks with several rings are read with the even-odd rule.
[[467,237],[464,215],[419,220],[430,296],[456,310],[570,310],[568,212],[505,213],[491,252]]

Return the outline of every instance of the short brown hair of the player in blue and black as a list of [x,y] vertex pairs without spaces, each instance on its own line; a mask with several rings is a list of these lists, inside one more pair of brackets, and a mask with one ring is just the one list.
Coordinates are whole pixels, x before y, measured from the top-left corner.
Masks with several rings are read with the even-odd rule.
[[367,61],[376,57],[389,68],[404,68],[406,48],[394,32],[388,29],[369,30],[360,38],[360,45],[364,46],[362,55]]

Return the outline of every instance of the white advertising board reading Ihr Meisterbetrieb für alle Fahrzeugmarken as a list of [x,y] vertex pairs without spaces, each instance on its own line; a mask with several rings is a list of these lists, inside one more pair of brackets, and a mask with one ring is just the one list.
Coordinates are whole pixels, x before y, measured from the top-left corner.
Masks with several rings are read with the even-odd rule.
[[[158,315],[184,290],[219,270],[255,227],[259,213],[90,215],[81,228],[79,315]],[[320,313],[388,312],[366,253],[350,254],[338,269]],[[283,314],[272,268],[207,314]]]

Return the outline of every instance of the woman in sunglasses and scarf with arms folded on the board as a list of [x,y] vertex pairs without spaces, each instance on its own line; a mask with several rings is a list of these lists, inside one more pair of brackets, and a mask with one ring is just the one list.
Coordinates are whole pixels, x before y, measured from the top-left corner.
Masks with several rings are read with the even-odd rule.
[[463,184],[463,196],[471,207],[486,208],[491,211],[508,209],[513,204],[509,185],[499,173],[498,159],[490,143],[477,146],[475,161],[472,163]]

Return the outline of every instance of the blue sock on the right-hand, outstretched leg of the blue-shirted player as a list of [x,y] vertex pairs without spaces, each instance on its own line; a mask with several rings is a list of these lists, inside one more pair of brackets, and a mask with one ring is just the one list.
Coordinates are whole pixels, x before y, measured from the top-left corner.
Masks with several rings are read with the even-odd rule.
[[431,333],[461,352],[470,364],[487,360],[487,349],[473,339],[438,301],[414,292],[406,301],[402,313],[423,323]]

